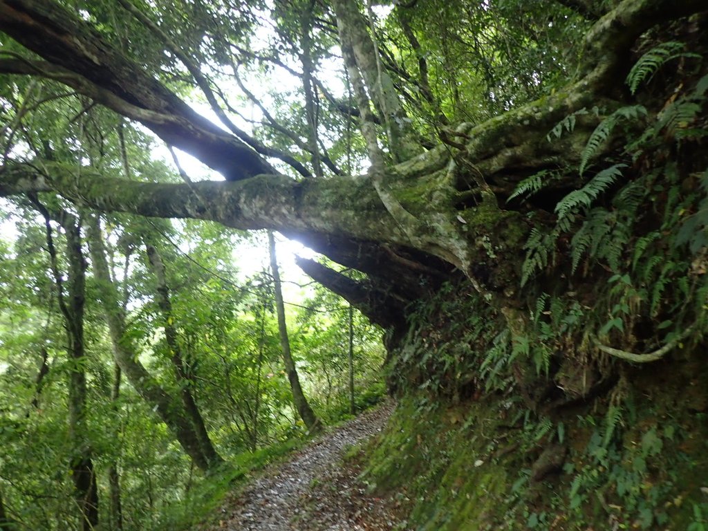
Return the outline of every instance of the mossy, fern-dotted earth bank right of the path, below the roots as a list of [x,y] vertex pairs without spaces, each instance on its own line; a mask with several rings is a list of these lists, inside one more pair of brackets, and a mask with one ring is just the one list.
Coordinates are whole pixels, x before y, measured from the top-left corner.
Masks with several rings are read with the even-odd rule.
[[[569,375],[459,287],[418,316],[389,359],[399,406],[363,457],[370,489],[397,492],[409,528],[708,528],[700,344],[647,365],[576,358]],[[533,330],[530,343],[549,344]]]

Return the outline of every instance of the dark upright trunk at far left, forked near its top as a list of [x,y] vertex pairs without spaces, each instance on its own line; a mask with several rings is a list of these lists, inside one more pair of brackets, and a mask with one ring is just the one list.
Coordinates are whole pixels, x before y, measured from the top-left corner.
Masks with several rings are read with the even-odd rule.
[[98,486],[93,471],[91,446],[86,433],[86,370],[84,349],[84,303],[86,302],[86,259],[81,249],[79,220],[68,212],[55,213],[53,218],[64,228],[66,234],[66,258],[69,266],[67,297],[64,297],[64,281],[59,272],[57,251],[52,237],[50,212],[36,198],[33,202],[45,217],[47,250],[57,286],[57,301],[64,316],[67,332],[67,350],[72,362],[69,375],[69,440],[73,455],[70,457],[74,496],[81,513],[81,528],[92,531],[98,527]]

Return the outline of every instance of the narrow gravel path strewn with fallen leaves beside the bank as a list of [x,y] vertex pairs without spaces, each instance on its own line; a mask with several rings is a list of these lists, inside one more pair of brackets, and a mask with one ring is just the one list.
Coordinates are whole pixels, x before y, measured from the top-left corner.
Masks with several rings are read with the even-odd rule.
[[212,530],[391,531],[405,530],[394,501],[375,498],[357,481],[358,469],[343,465],[351,445],[379,433],[393,404],[362,413],[317,438],[292,459],[266,470],[222,507]]

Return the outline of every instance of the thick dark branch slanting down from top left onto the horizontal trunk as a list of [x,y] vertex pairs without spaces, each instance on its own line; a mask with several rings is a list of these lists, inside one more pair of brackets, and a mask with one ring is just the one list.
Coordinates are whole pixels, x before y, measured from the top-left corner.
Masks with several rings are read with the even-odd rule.
[[[89,23],[50,0],[0,0],[0,30],[49,63],[14,65],[10,73],[42,75],[72,86],[139,120],[167,144],[193,154],[229,180],[274,173],[236,137],[198,114]],[[4,67],[8,68],[5,62]]]

